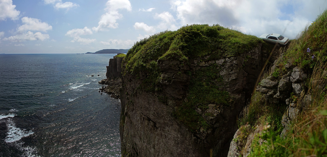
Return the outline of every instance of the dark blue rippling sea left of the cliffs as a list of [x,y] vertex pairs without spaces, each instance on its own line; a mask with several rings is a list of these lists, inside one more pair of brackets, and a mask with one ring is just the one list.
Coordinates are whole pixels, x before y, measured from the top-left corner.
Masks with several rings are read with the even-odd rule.
[[120,100],[98,84],[114,55],[1,54],[0,157],[121,156]]

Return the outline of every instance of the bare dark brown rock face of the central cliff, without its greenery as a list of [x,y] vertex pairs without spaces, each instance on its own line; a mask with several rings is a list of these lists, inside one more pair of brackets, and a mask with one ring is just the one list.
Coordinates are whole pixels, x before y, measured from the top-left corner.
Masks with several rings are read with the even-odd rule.
[[[259,44],[247,53],[218,60],[209,60],[210,56],[189,61],[158,60],[160,90],[155,92],[142,90],[143,80],[147,79],[145,73],[136,78],[126,72],[120,91],[122,156],[227,156],[237,130],[237,116],[250,99],[268,58],[268,52],[262,50]],[[221,81],[212,80],[211,83],[227,91],[230,100],[228,105],[196,106],[197,114],[210,127],[190,130],[174,114],[182,103],[189,101],[190,73],[212,66],[219,71]]]

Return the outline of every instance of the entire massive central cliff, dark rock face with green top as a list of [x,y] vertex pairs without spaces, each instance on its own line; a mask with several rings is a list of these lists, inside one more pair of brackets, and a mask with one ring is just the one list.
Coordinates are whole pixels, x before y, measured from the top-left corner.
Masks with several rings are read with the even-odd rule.
[[[224,47],[226,39],[235,49]],[[207,25],[134,45],[123,62],[122,155],[227,156],[237,116],[270,50],[256,37]]]

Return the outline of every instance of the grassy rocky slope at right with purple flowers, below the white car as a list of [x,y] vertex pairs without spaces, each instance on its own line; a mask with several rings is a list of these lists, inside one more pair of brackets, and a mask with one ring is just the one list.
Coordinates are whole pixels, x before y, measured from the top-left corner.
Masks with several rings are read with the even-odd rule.
[[263,75],[228,156],[327,154],[327,11]]

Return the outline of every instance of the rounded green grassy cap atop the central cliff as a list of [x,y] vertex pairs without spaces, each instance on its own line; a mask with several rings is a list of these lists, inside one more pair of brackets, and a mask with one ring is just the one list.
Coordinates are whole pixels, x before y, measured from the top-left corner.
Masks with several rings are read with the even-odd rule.
[[230,57],[249,52],[260,42],[255,36],[220,25],[187,25],[177,31],[160,32],[136,42],[125,58],[126,70],[138,73],[141,67],[151,69],[158,59],[187,61],[206,55],[211,55],[210,59]]

